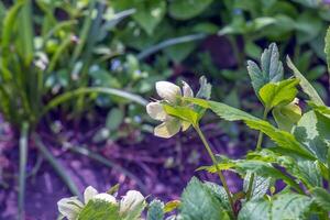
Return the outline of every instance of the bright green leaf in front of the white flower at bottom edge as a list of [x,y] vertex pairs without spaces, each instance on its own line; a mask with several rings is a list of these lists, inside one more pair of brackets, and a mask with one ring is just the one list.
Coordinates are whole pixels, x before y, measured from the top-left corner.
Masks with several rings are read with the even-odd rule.
[[100,199],[90,200],[79,213],[78,220],[90,219],[119,220],[119,207]]

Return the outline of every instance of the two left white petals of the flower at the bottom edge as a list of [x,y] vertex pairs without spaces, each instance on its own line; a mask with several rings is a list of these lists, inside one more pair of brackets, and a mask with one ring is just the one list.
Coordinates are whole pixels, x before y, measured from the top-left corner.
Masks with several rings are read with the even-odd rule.
[[89,186],[84,191],[84,204],[78,197],[63,198],[57,202],[58,211],[68,220],[77,220],[82,208],[91,199],[101,199],[110,204],[117,204],[113,196],[109,194],[99,194],[94,187]]

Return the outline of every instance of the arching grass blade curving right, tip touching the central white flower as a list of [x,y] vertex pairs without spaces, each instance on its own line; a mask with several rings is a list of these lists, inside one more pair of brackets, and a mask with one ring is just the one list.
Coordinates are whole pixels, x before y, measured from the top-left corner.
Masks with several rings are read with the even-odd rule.
[[145,106],[147,103],[147,100],[143,99],[142,97],[124,91],[124,90],[120,90],[120,89],[113,89],[113,88],[103,88],[103,87],[89,87],[89,88],[79,88],[73,91],[67,91],[63,95],[57,96],[56,98],[54,98],[52,101],[48,102],[48,105],[44,108],[44,110],[42,111],[42,114],[45,114],[46,112],[48,112],[50,110],[54,109],[55,107],[57,107],[58,105],[70,100],[73,98],[77,98],[81,95],[85,94],[108,94],[108,95],[112,95],[112,96],[118,96],[118,97],[122,97],[124,99],[134,101],[139,105]]

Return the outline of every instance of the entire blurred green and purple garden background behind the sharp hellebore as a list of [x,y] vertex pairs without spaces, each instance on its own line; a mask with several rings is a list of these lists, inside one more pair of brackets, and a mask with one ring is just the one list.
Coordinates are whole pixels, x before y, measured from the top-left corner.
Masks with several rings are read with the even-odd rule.
[[[276,42],[329,103],[328,0],[2,0],[0,21],[0,219],[56,219],[89,185],[168,201],[194,175],[216,180],[196,172],[210,161],[193,130],[153,136],[157,80],[197,91],[204,75],[213,100],[260,116],[246,61]],[[255,145],[212,114],[202,130],[233,158]]]

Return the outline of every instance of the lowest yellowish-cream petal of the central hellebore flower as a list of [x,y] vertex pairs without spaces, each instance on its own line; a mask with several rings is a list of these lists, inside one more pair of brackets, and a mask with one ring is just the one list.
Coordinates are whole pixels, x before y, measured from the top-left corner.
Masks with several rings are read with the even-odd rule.
[[178,133],[179,130],[180,130],[179,120],[175,118],[170,118],[154,129],[154,135],[169,139],[170,136]]

